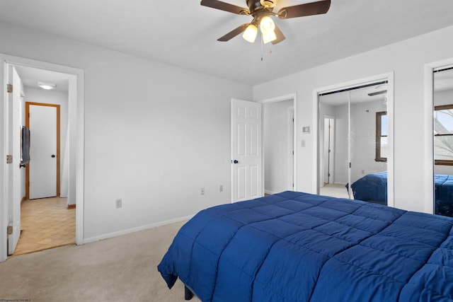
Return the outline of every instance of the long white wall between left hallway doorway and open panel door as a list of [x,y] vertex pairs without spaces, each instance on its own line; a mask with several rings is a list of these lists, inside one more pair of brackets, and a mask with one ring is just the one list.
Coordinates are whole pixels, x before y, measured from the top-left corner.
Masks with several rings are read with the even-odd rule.
[[251,86],[5,24],[0,40],[85,70],[85,242],[230,201],[230,100]]

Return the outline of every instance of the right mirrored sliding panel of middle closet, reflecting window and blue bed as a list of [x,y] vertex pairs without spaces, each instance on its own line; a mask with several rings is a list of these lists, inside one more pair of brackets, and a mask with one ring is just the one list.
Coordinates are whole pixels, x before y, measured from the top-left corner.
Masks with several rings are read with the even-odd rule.
[[355,199],[386,205],[388,127],[384,87],[350,91],[353,101],[350,103],[349,183]]

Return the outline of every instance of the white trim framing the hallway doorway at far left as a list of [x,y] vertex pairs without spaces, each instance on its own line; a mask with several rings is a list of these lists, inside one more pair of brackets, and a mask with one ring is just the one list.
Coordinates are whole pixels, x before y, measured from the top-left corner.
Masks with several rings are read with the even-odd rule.
[[[76,169],[76,244],[82,244],[84,242],[84,70],[83,69],[76,69],[74,67],[69,67],[69,66],[62,66],[58,64],[52,64],[48,62],[41,62],[41,61],[36,61],[33,59],[26,59],[23,57],[15,57],[11,56],[8,54],[0,54],[0,57],[4,59],[4,64],[12,64],[12,65],[23,65],[23,66],[30,66],[30,67],[35,67],[38,69],[47,69],[51,71],[58,71],[62,72],[64,74],[69,74],[74,76],[74,81],[72,81],[72,87],[74,85],[77,88],[76,91],[76,98],[74,98],[74,102],[76,104],[74,105],[75,108],[75,113],[74,113],[74,120],[76,123],[76,137],[74,140],[71,139],[71,144],[76,144],[76,164],[75,164],[75,169]],[[6,72],[6,70],[5,70]],[[2,76],[5,76],[2,75]],[[6,81],[6,78],[0,79],[1,80],[1,88],[0,88],[0,95],[3,95],[5,97],[6,92],[2,93],[4,91],[4,83]],[[70,86],[71,88],[71,81],[70,81]],[[69,98],[69,102],[71,102],[71,98]],[[6,102],[4,102],[6,103]],[[3,113],[5,115],[5,112],[1,112],[0,114]],[[71,115],[71,114],[70,114]],[[5,116],[4,116],[5,117]],[[3,119],[5,121],[5,118]],[[4,128],[5,129],[5,128]],[[0,156],[3,156],[3,158],[6,157],[6,144],[4,144],[4,137],[0,137],[1,143],[4,146],[2,151],[0,151]],[[4,153],[4,154],[1,154]],[[5,155],[5,156],[4,156]],[[4,163],[1,163],[0,165],[4,165]],[[3,171],[5,169],[2,169]],[[5,177],[5,175],[4,175]],[[0,189],[3,189],[3,186],[6,182],[6,178],[1,179],[0,178]],[[3,196],[4,190],[1,190],[1,194]],[[7,213],[7,205],[5,202],[4,197],[0,198],[0,209],[2,210],[2,213]],[[6,219],[6,221],[5,221]],[[7,216],[5,218],[5,214],[0,216],[0,226],[6,226],[5,223],[8,223],[7,221]],[[6,247],[3,247],[3,243],[6,245],[6,233],[0,232],[0,262],[6,260]]]

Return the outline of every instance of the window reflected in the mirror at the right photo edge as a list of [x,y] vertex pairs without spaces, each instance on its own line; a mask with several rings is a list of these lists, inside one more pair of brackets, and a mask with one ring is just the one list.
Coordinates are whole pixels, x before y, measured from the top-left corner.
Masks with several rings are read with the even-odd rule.
[[453,165],[453,105],[434,108],[434,163]]

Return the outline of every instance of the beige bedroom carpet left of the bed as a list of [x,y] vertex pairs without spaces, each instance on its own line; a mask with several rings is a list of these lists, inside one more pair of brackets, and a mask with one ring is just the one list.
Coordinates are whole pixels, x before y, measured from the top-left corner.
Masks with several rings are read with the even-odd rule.
[[156,268],[182,225],[10,257],[0,301],[185,301],[183,284],[169,290]]

